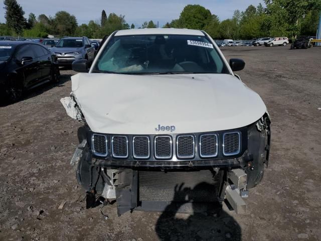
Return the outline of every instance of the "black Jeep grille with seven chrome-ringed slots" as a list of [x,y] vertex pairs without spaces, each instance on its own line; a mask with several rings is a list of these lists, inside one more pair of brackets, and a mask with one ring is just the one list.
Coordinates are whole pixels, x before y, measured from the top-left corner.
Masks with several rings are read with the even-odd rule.
[[229,158],[246,150],[246,134],[245,129],[183,135],[134,136],[94,133],[92,152],[94,156],[128,161]]

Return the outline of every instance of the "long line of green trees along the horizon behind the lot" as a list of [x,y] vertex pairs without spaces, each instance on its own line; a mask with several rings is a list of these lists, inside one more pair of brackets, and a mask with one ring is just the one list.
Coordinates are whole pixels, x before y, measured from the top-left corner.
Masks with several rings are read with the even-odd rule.
[[[220,21],[218,16],[200,5],[187,5],[178,19],[166,23],[163,28],[188,28],[205,30],[213,39],[252,39],[264,36],[315,35],[320,0],[264,0],[257,7],[250,5],[241,12],[235,10],[232,18]],[[77,19],[65,11],[54,17],[35,14],[24,17],[25,12],[17,0],[4,0],[6,24],[0,24],[0,35],[45,38],[55,36],[87,36],[102,38],[115,30],[133,29],[125,16],[103,10],[100,21],[78,25]],[[137,26],[138,27],[138,26]],[[138,28],[156,28],[153,21],[145,21]]]

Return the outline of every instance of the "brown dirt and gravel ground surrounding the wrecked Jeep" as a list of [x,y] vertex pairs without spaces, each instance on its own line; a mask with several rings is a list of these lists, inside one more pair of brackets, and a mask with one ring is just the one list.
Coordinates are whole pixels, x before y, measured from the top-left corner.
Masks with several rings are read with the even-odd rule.
[[[0,240],[321,240],[321,48],[223,48],[272,118],[270,164],[236,215],[86,210],[69,165],[80,124],[59,99],[73,71],[0,107]],[[66,201],[63,209],[58,206]]]

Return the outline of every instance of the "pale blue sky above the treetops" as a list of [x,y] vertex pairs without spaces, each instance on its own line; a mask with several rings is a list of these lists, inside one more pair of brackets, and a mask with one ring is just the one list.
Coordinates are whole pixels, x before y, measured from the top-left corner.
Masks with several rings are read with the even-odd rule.
[[[67,11],[74,15],[78,24],[87,24],[90,20],[100,21],[101,11],[108,14],[124,15],[126,22],[140,27],[144,21],[152,20],[159,27],[178,19],[188,4],[199,4],[209,9],[219,19],[231,18],[234,10],[244,11],[250,4],[263,4],[262,0],[18,0],[28,18],[30,13],[55,16],[58,11]],[[0,22],[5,23],[4,1],[0,0]]]

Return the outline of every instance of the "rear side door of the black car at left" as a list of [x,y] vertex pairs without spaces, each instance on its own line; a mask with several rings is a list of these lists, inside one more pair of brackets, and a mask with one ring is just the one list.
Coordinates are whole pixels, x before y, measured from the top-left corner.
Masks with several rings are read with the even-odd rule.
[[41,71],[41,77],[39,82],[44,79],[49,79],[51,75],[51,57],[48,51],[40,45],[33,45],[33,49],[39,60],[39,66]]

